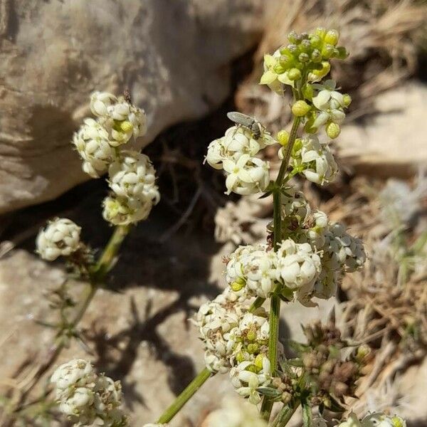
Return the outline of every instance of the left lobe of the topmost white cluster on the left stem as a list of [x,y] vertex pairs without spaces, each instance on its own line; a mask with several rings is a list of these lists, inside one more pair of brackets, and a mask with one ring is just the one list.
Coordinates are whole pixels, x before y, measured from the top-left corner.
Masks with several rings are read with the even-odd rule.
[[83,159],[83,171],[98,178],[116,159],[116,152],[108,132],[93,119],[85,119],[84,125],[74,134],[73,144]]

